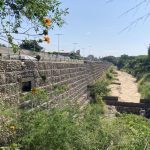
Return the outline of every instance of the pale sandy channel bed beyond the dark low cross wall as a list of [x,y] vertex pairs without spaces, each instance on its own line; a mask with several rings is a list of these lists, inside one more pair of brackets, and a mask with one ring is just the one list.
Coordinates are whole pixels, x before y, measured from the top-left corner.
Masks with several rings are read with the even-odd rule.
[[141,95],[138,92],[136,79],[126,72],[116,71],[116,73],[118,80],[110,85],[111,95],[118,96],[119,101],[139,103]]

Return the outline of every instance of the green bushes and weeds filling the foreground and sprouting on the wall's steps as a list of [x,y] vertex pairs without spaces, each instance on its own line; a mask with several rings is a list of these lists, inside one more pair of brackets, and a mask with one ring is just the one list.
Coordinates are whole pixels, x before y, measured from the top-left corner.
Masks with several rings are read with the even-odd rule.
[[[15,150],[150,149],[150,121],[142,116],[127,114],[106,117],[106,106],[101,96],[104,90],[108,90],[108,84],[102,86],[100,82],[105,83],[98,80],[92,86],[96,88],[94,103],[82,109],[69,101],[64,108],[34,111],[10,109],[1,103],[5,110],[1,114],[8,122],[0,123],[0,146]],[[33,90],[25,98],[40,99],[41,96],[47,99],[48,93]],[[36,101],[35,98],[33,101]]]

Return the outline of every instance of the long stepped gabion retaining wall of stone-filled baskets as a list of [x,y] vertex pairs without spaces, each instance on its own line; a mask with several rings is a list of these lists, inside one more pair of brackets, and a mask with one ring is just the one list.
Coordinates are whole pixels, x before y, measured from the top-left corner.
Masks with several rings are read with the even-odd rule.
[[[19,103],[22,83],[31,81],[31,88],[48,90],[52,101],[79,99],[87,92],[87,85],[99,78],[111,64],[103,62],[61,63],[32,61],[0,61],[0,99],[10,104]],[[41,76],[45,76],[44,81]],[[69,89],[54,94],[54,85],[67,85]]]

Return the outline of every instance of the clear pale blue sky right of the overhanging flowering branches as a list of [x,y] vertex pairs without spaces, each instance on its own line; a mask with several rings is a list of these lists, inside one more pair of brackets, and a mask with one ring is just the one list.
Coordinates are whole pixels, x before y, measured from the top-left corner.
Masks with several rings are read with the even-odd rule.
[[60,49],[72,51],[80,49],[86,56],[108,56],[121,54],[146,54],[150,43],[150,20],[141,21],[136,26],[120,33],[136,18],[146,14],[149,7],[142,7],[119,17],[141,0],[62,0],[63,7],[69,8],[63,28],[50,32],[51,44],[44,45],[47,50],[57,50],[56,33],[60,37]]

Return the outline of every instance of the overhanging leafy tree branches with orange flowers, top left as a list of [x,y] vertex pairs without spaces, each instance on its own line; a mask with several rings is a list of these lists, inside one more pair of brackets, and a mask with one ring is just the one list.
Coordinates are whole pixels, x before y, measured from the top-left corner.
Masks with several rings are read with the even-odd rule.
[[1,0],[0,40],[11,44],[16,52],[20,39],[48,35],[49,29],[64,24],[62,17],[68,14],[68,9],[60,6],[59,0]]

